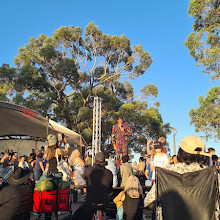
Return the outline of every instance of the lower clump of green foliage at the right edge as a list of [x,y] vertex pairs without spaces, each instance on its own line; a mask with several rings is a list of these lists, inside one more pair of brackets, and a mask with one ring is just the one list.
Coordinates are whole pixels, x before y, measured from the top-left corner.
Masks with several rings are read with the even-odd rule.
[[199,97],[199,107],[190,111],[191,124],[196,132],[204,132],[206,138],[220,138],[220,87],[209,90]]

